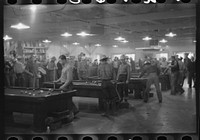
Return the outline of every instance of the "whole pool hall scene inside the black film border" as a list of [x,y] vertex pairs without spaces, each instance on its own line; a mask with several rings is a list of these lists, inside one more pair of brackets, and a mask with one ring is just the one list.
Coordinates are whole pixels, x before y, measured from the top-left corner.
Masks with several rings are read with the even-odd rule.
[[195,4],[4,6],[6,134],[196,132]]

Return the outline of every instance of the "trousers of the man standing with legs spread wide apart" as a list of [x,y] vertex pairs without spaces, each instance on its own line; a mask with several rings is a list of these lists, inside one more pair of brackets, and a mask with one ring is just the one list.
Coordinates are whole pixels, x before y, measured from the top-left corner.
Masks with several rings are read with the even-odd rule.
[[162,93],[160,90],[160,84],[159,84],[159,77],[156,73],[150,73],[148,75],[147,83],[146,83],[146,89],[144,92],[144,101],[148,101],[149,99],[149,91],[151,88],[151,85],[154,84],[156,87],[156,93],[159,101],[162,101]]

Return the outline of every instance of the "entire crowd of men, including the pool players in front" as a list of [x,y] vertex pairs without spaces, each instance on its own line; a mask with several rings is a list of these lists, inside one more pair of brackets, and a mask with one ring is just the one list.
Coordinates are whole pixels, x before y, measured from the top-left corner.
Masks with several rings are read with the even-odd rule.
[[[138,69],[139,68],[139,69]],[[128,83],[131,73],[138,73],[140,76],[146,76],[147,84],[144,92],[144,102],[148,101],[149,91],[152,84],[155,85],[158,101],[162,103],[162,93],[159,85],[159,75],[168,74],[170,76],[171,95],[183,94],[183,84],[188,79],[188,86],[192,88],[196,85],[195,60],[192,56],[188,58],[185,53],[184,59],[178,55],[157,60],[156,58],[145,57],[142,61],[135,63],[132,58],[121,55],[120,58],[111,58],[102,56],[100,63],[95,59],[86,58],[84,53],[75,57],[61,55],[59,61],[52,57],[47,62],[39,62],[37,57],[32,56],[24,60],[17,57],[15,53],[5,57],[5,86],[19,87],[42,87],[43,82],[50,81],[61,83],[60,89],[70,89],[72,80],[86,80],[88,77],[98,76],[102,80],[102,87],[105,94],[102,94],[107,103],[107,110],[113,104],[114,99],[118,98],[120,102],[127,102]],[[115,91],[112,81],[124,82],[122,88]]]

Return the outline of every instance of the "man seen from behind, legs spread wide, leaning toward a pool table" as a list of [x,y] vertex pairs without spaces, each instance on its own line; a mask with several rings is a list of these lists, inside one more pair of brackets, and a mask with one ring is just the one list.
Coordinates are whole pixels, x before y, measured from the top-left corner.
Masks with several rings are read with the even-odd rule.
[[156,92],[157,92],[157,97],[159,100],[159,103],[162,103],[162,93],[160,90],[160,85],[159,85],[159,68],[158,68],[158,64],[155,61],[155,59],[151,60],[151,63],[147,63],[142,71],[142,73],[140,74],[140,78],[147,73],[147,83],[146,83],[146,89],[144,92],[144,102],[146,103],[149,99],[149,90],[152,84],[155,85],[156,87]]

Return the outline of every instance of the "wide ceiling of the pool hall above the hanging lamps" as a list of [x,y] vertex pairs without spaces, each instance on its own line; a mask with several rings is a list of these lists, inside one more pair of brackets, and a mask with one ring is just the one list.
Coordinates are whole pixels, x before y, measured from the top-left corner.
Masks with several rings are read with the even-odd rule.
[[[170,31],[177,34],[171,42],[195,40],[195,4],[112,4],[112,5],[39,5],[35,13],[29,5],[4,6],[4,35],[14,40],[44,40],[102,44],[118,43],[114,38],[125,37],[131,45],[142,43],[145,36],[165,38]],[[16,30],[11,25],[22,22],[31,28]],[[95,36],[80,37],[86,31]],[[71,37],[62,37],[69,32]]]

